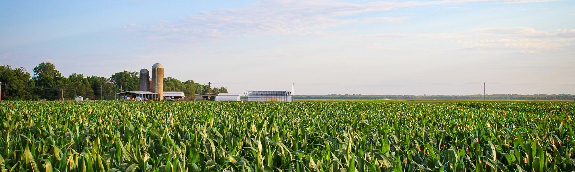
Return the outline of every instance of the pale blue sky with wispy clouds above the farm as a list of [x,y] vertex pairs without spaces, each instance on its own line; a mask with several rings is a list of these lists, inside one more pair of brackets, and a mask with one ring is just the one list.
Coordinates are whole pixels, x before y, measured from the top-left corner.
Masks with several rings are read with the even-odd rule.
[[[575,1],[0,1],[0,65],[296,95],[575,94]],[[293,84],[292,84],[293,83]]]

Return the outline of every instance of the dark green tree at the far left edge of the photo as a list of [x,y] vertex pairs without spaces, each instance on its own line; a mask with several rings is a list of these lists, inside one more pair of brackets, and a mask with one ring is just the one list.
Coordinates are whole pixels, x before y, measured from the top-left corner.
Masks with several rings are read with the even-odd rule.
[[12,69],[9,65],[0,66],[0,84],[2,100],[35,99],[34,81],[24,68]]

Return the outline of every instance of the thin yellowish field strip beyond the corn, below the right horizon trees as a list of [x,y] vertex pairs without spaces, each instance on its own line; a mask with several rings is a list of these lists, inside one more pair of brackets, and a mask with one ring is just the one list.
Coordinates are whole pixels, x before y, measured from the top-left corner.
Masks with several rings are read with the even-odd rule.
[[[296,99],[294,101],[358,101],[358,102],[413,102],[413,103],[451,103],[483,102],[483,100],[344,100],[344,99]],[[573,100],[485,100],[486,102],[575,102]]]

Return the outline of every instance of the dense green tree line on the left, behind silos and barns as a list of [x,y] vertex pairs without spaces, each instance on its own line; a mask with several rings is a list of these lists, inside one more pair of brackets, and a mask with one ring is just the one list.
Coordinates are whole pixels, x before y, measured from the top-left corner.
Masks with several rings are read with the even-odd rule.
[[[70,100],[75,96],[114,100],[116,92],[140,90],[139,72],[116,72],[109,78],[84,77],[79,73],[66,77],[51,62],[42,62],[32,71],[33,76],[24,68],[0,65],[2,100]],[[164,78],[164,91],[183,91],[188,98],[195,98],[198,93],[228,93],[226,87],[211,88],[194,80],[182,82],[173,77]]]

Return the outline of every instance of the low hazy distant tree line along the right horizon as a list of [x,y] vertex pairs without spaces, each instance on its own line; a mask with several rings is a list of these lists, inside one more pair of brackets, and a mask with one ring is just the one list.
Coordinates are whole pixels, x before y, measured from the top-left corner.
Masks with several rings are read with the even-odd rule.
[[[343,99],[343,100],[481,100],[483,95],[448,96],[448,95],[295,95],[294,99]],[[575,100],[575,95],[485,95],[488,100]]]

